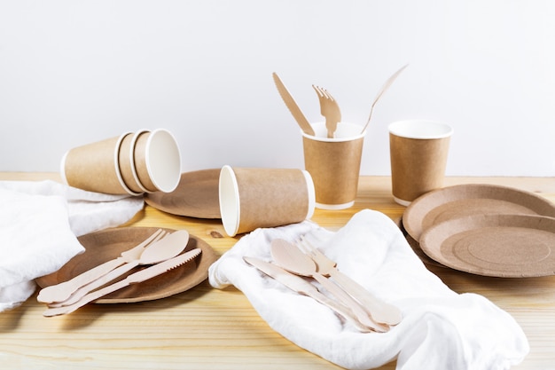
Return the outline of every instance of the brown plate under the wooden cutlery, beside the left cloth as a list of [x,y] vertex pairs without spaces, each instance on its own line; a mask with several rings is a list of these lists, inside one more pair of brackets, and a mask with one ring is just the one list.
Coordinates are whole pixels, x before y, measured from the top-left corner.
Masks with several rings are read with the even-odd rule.
[[[38,278],[36,282],[39,287],[48,287],[72,279],[74,276],[90,270],[98,264],[120,256],[121,252],[137,246],[137,244],[148,238],[156,230],[158,230],[156,227],[122,227],[83,235],[78,239],[85,248],[85,251],[81,255],[74,256],[58,272]],[[170,229],[164,230],[168,232],[175,231]],[[218,256],[214,249],[205,241],[190,235],[184,252],[192,248],[200,248],[202,253],[187,264],[178,266],[152,279],[124,287],[98,299],[95,303],[152,301],[176,295],[196,287],[207,279],[208,267],[217,260]],[[137,267],[131,270],[128,275],[137,272],[140,268]]]

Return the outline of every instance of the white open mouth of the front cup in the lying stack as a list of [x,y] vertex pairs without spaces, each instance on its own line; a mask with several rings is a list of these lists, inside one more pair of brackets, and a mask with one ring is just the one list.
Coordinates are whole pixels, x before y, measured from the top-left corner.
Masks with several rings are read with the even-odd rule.
[[176,138],[168,130],[153,130],[146,140],[146,171],[160,192],[176,190],[181,179],[181,155]]

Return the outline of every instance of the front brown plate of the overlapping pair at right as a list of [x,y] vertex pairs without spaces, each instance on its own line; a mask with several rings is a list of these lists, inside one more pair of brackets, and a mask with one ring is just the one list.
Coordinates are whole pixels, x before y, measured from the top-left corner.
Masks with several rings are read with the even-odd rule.
[[555,218],[467,216],[436,224],[420,238],[426,255],[453,269],[526,278],[555,273]]

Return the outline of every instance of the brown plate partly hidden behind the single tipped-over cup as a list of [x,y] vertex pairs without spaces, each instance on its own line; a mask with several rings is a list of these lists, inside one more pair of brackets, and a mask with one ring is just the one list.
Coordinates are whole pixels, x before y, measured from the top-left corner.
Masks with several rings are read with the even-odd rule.
[[219,178],[220,169],[184,172],[176,190],[145,194],[145,202],[172,215],[222,218],[218,198]]

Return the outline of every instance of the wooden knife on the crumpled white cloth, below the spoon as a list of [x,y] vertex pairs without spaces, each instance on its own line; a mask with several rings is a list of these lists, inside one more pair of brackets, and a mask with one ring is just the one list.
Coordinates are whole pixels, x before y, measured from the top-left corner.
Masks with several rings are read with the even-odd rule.
[[341,317],[348,319],[348,321],[355,325],[361,332],[369,333],[373,331],[371,328],[363,326],[363,324],[356,319],[355,315],[353,315],[353,312],[350,311],[348,307],[320,293],[317,287],[313,286],[305,279],[302,279],[300,276],[287,272],[276,264],[270,264],[269,262],[262,261],[258,258],[245,256],[243,259],[247,264],[253,265],[261,272],[270,276],[270,278],[279,281],[285,287],[288,287],[301,295],[307,295],[316,300],[318,303],[324,304],[324,306],[327,306],[332,311],[335,311]]

